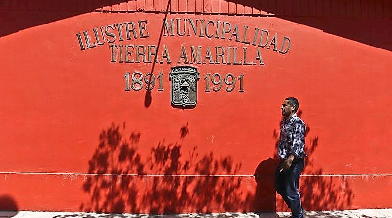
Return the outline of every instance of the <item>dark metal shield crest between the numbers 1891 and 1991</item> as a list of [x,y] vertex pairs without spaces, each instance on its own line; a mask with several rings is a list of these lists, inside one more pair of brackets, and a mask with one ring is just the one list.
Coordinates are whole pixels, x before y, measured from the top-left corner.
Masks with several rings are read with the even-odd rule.
[[196,67],[172,67],[169,78],[172,80],[171,100],[176,106],[195,106],[197,103],[197,80],[200,73]]

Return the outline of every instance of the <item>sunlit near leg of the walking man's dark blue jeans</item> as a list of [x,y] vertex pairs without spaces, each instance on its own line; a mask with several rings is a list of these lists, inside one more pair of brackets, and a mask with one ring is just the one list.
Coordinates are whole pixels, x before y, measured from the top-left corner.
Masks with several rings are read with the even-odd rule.
[[299,176],[303,170],[304,160],[296,159],[288,170],[283,170],[285,175],[286,196],[290,202],[293,218],[303,218],[301,194],[299,194]]

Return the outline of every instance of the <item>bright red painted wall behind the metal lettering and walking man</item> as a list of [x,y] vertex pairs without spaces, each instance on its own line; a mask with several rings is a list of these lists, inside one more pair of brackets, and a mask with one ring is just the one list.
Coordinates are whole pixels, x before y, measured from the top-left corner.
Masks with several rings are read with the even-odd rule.
[[[0,194],[7,197],[0,202],[14,205],[1,209],[287,210],[273,190],[285,97],[300,100],[307,124],[304,208],[392,206],[391,1],[380,12],[379,1],[306,1],[305,10],[281,1],[204,1],[201,7],[196,0],[187,7],[174,2],[168,13],[159,13],[163,1],[160,7],[147,0],[99,7],[48,2],[10,1],[1,8]],[[286,54],[260,48],[262,66],[192,64],[200,72],[197,105],[175,108],[168,75],[181,45],[247,47],[252,59],[257,47],[161,37],[164,18],[231,22],[240,36],[244,25],[253,34],[258,27],[277,33],[278,48],[283,36],[291,47]],[[94,28],[141,20],[149,37],[115,44],[166,45],[172,63],[113,63],[107,42],[80,48],[77,33],[88,31],[94,41]],[[135,70],[164,73],[164,91],[124,91],[124,74]],[[232,92],[225,85],[205,92],[207,73],[243,74],[244,92],[238,84]]]

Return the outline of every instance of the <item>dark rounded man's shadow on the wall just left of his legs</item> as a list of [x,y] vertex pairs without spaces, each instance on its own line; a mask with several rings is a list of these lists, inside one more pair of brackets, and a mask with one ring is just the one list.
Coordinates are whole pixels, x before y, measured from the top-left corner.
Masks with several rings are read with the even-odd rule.
[[276,193],[274,186],[274,174],[278,161],[273,158],[263,160],[257,166],[254,176],[257,189],[255,194],[255,211],[276,211]]

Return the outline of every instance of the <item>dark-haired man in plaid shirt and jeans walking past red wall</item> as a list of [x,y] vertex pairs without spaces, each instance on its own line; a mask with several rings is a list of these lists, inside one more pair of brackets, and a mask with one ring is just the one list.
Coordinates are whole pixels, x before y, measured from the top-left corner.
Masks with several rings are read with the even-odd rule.
[[291,209],[293,218],[303,218],[304,210],[299,194],[299,176],[304,167],[306,157],[305,123],[296,115],[299,102],[294,97],[283,101],[283,121],[280,126],[278,156],[280,162],[275,171],[275,189],[287,206]]

